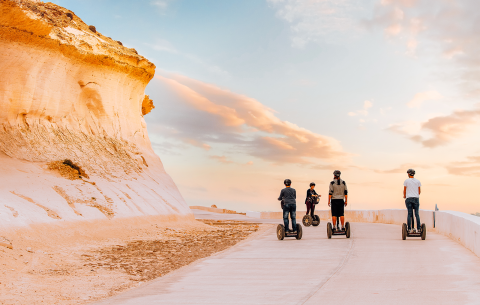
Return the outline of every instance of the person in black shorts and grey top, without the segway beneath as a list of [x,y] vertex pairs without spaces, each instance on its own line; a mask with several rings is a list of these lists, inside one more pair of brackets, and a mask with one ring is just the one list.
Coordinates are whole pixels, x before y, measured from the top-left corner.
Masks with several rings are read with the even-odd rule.
[[[333,231],[339,231],[340,228],[337,226],[337,218],[340,218],[342,223],[342,231],[345,231],[345,207],[347,206],[348,200],[348,189],[345,181],[340,179],[342,173],[339,170],[333,172],[333,181],[330,182],[328,188],[328,206],[332,210],[332,223]],[[344,201],[345,199],[345,201]]]

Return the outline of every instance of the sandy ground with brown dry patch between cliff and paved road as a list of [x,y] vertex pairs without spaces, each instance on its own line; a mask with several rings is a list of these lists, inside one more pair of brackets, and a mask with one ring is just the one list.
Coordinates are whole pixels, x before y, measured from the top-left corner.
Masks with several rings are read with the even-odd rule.
[[85,223],[10,234],[0,304],[88,304],[225,250],[269,225],[234,220]]

